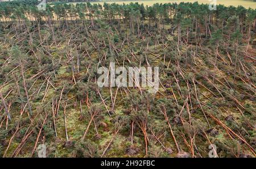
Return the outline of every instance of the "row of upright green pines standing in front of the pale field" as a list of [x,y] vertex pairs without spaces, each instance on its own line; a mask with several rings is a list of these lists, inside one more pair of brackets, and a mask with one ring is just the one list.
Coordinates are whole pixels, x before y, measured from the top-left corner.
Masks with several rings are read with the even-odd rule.
[[[139,3],[118,5],[117,3],[55,3],[46,6],[45,11],[39,11],[37,0],[10,1],[0,3],[0,22],[13,22],[20,20],[64,21],[67,20],[113,20],[118,24],[134,23],[139,28],[144,20],[149,21],[150,26],[159,27],[171,22],[182,23],[184,20],[198,27],[198,23],[204,24],[205,29],[213,26],[223,28],[232,16],[237,17],[241,29],[253,27],[255,30],[256,10],[245,9],[243,6],[217,5],[217,10],[209,10],[209,5],[194,3],[155,3],[152,6],[144,6]],[[54,15],[53,15],[54,14]],[[190,18],[188,20],[188,18]],[[184,23],[184,24],[187,24]]]

